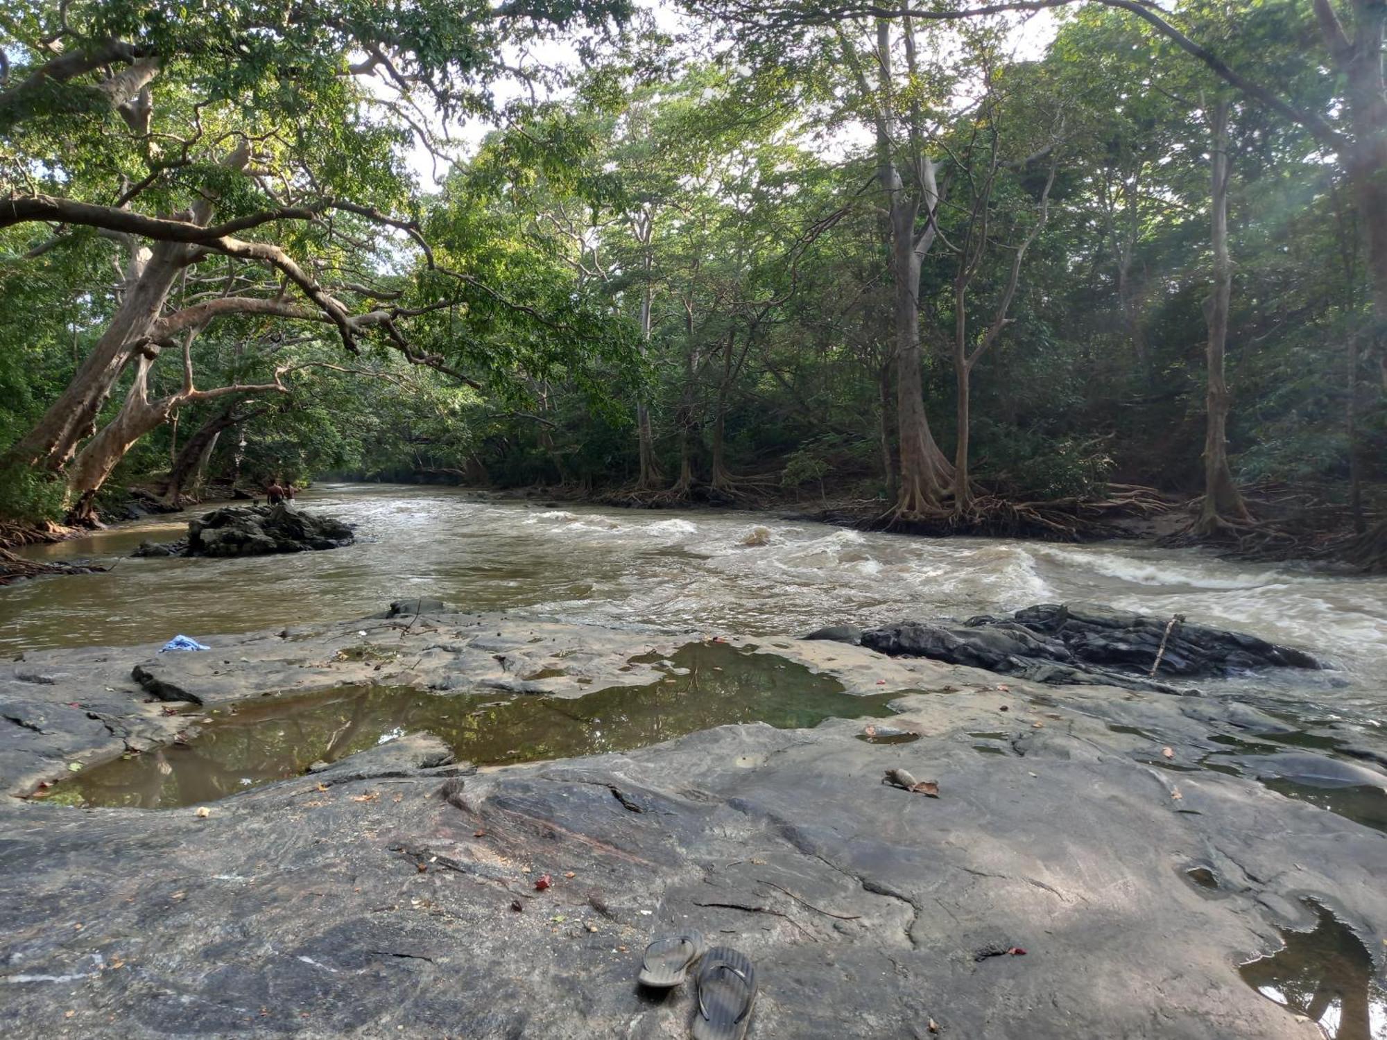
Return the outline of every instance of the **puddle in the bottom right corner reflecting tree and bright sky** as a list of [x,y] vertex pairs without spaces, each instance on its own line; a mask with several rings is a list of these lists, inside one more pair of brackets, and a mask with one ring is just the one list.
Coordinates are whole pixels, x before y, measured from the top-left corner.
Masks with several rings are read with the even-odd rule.
[[1318,903],[1311,932],[1280,929],[1286,947],[1239,968],[1264,997],[1316,1022],[1330,1040],[1387,1037],[1387,986],[1354,932]]

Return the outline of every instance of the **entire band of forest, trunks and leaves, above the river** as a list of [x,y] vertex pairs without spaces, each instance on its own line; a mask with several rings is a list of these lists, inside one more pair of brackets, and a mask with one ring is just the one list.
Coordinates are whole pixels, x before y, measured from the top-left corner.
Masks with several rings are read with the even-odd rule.
[[0,519],[334,473],[1019,530],[1150,487],[1381,566],[1384,24],[21,0]]

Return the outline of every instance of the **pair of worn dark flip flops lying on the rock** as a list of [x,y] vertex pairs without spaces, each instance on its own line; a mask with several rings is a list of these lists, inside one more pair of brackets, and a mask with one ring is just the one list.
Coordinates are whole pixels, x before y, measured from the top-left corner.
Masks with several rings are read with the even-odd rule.
[[695,964],[695,1040],[742,1040],[756,1007],[756,967],[745,954],[730,946],[706,950],[698,932],[662,936],[645,947],[637,978],[652,989],[673,989]]

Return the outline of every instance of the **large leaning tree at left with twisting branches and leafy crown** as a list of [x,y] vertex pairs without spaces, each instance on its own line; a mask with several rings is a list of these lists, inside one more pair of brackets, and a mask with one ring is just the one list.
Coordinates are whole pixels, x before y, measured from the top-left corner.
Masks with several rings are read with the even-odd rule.
[[[0,229],[47,225],[46,239],[28,243],[28,259],[89,243],[74,234],[82,227],[112,236],[126,254],[110,323],[67,390],[10,449],[10,465],[64,469],[128,367],[168,344],[169,323],[236,313],[322,322],[348,352],[380,344],[447,369],[442,355],[417,351],[405,331],[412,318],[456,306],[456,287],[470,284],[466,272],[440,272],[408,212],[398,153],[411,133],[426,136],[409,118],[413,96],[427,93],[444,116],[484,111],[503,47],[626,14],[620,0],[553,10],[208,0],[191,11],[46,3],[6,17],[0,125],[12,147],[0,153],[0,172],[17,187],[0,200]],[[225,69],[211,71],[218,64]],[[383,87],[368,89],[368,76]],[[358,263],[363,252],[393,252],[399,236],[430,272],[447,275],[416,281],[434,293],[415,305],[401,302],[398,283],[373,284],[379,269],[345,259],[347,250]],[[219,268],[212,277],[226,291],[194,304],[196,312],[165,315],[191,268]],[[258,277],[247,279],[247,269]],[[112,430],[107,441],[123,438]],[[89,474],[108,471],[107,455],[103,445],[80,467],[79,495],[90,491]]]

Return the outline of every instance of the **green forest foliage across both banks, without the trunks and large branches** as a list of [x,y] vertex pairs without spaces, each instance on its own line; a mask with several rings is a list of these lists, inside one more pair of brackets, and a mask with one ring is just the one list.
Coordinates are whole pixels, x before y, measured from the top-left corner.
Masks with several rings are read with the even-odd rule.
[[[691,10],[736,14],[721,0]],[[391,312],[361,326],[355,352],[320,313],[211,322],[190,347],[197,385],[257,390],[186,405],[176,431],[165,423],[129,451],[117,481],[157,477],[232,405],[211,462],[222,477],[627,484],[641,402],[666,478],[687,462],[695,494],[727,494],[739,477],[795,494],[885,489],[897,344],[874,179],[878,147],[915,147],[938,159],[946,196],[915,287],[925,404],[943,449],[958,434],[956,330],[961,322],[976,347],[992,322],[1056,155],[1049,222],[1003,334],[971,370],[975,476],[1047,498],[1099,495],[1110,477],[1197,489],[1214,97],[1233,105],[1234,469],[1341,494],[1352,412],[1365,477],[1387,478],[1384,337],[1370,323],[1362,222],[1343,171],[1147,22],[1074,6],[1025,61],[1008,57],[999,21],[917,25],[917,53],[896,46],[884,90],[863,61],[875,46],[867,21],[725,18],[727,50],[705,64],[682,60],[626,0],[524,11],[43,0],[0,18],[12,64],[0,90],[7,190],[110,205],[141,186],[125,202],[132,212],[201,204],[216,220],[307,200],[319,207],[312,219],[244,237],[282,247],[351,313]],[[1307,6],[1229,11],[1193,0],[1182,25],[1295,105],[1340,119],[1341,83],[1307,58],[1319,53]],[[126,65],[29,85],[64,18],[71,54],[118,39],[158,57],[147,133],[103,100],[104,78]],[[608,35],[621,25],[639,32]],[[580,68],[528,65],[516,97],[498,100],[531,47],[571,50]],[[379,49],[393,72],[379,67],[372,83],[345,75]],[[401,82],[395,107],[381,104]],[[918,140],[878,143],[886,100],[897,115],[928,114]],[[415,103],[429,118],[501,128],[429,194],[411,169]],[[247,169],[226,164],[241,143],[252,146]],[[960,293],[960,247],[975,233],[990,244]],[[129,258],[129,243],[90,230],[0,229],[0,442],[19,440],[68,385],[126,294],[117,272]],[[208,255],[187,265],[165,313],[222,294],[302,302],[295,293],[283,270]],[[153,363],[151,399],[182,388],[179,347],[165,343]],[[98,426],[132,387],[133,367]],[[0,495],[6,516],[62,508],[61,481],[26,471],[0,477]]]

